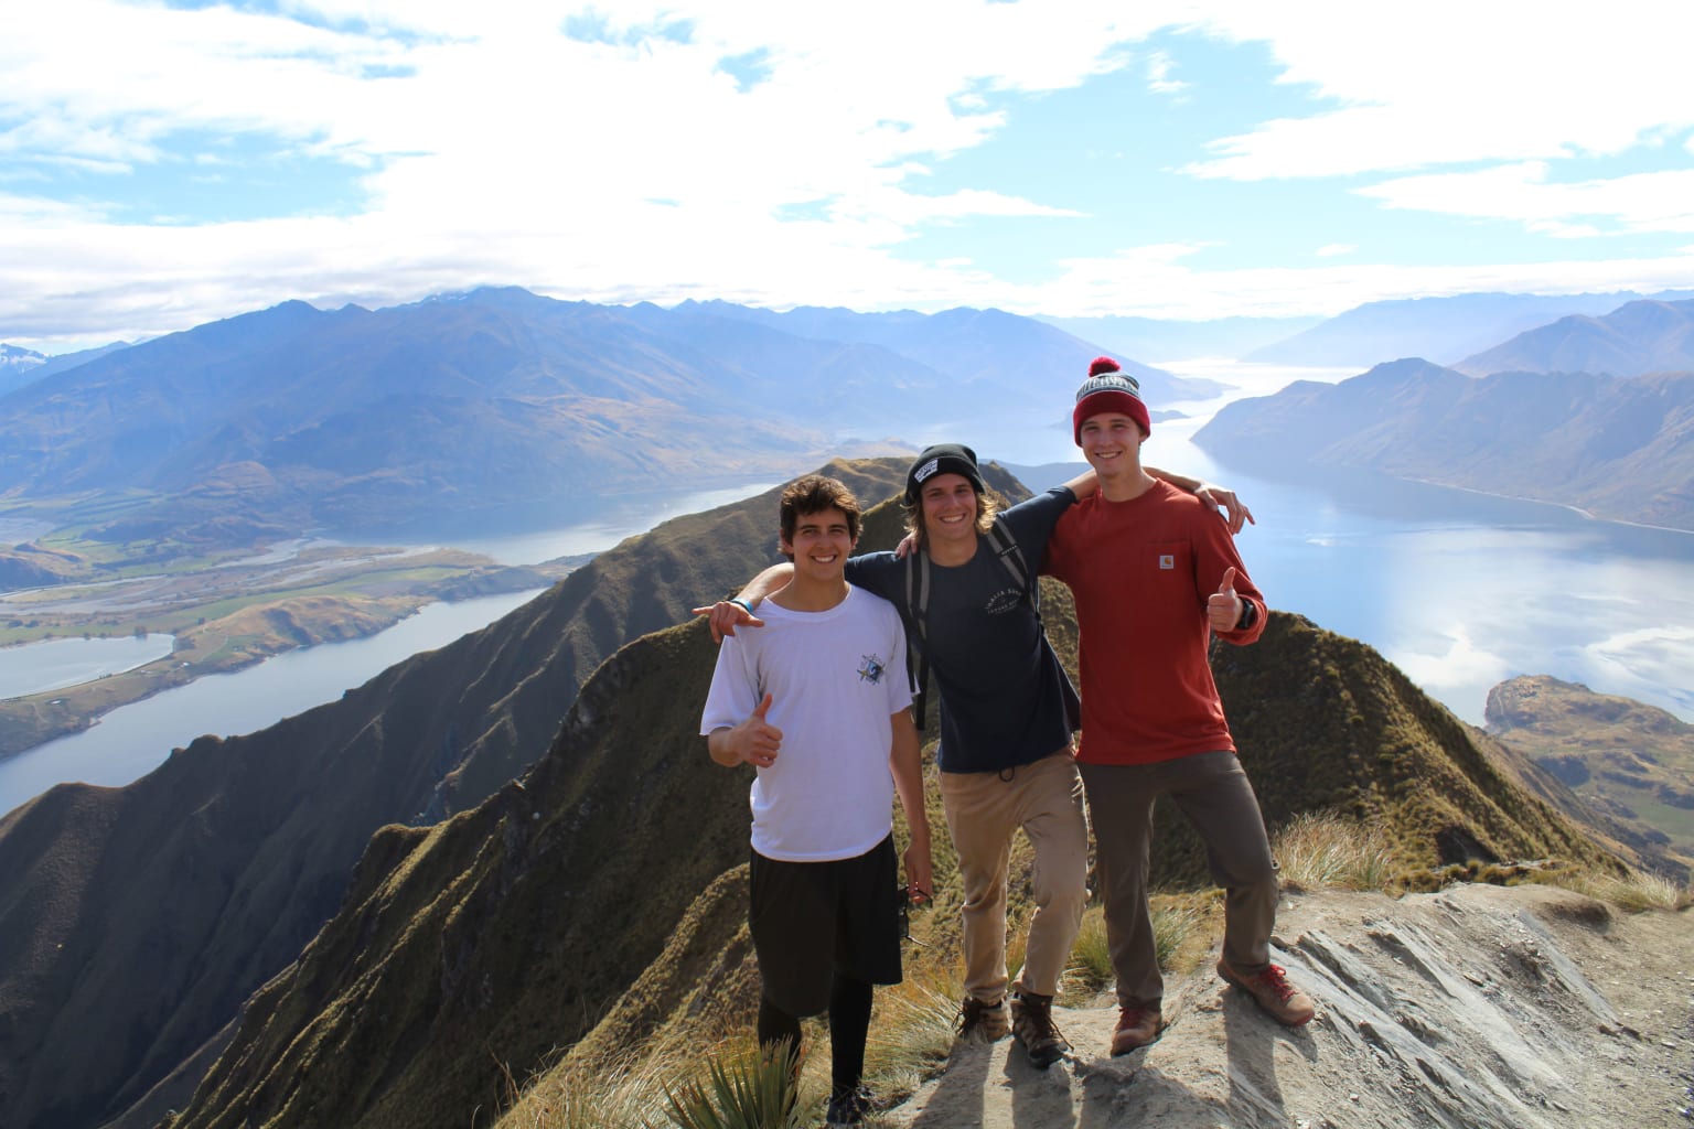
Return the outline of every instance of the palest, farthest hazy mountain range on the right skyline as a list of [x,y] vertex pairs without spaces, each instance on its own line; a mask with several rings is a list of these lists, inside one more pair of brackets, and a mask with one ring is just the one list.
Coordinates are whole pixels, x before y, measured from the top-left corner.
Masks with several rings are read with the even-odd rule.
[[1611,313],[1638,298],[1689,296],[1694,293],[1619,291],[1616,295],[1455,295],[1370,301],[1287,340],[1255,349],[1243,359],[1360,369],[1399,357],[1431,357],[1452,364],[1567,315]]

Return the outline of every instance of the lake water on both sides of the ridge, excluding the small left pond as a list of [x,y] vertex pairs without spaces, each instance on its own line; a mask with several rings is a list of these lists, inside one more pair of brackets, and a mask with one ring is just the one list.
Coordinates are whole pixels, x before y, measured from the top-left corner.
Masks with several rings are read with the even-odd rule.
[[[1254,393],[1279,388],[1289,376],[1264,366],[1198,362],[1187,371]],[[1352,374],[1298,372],[1306,379]],[[1145,457],[1245,498],[1259,525],[1238,543],[1272,609],[1364,640],[1474,724],[1482,723],[1487,691],[1518,674],[1582,682],[1694,721],[1694,591],[1687,584],[1694,535],[1362,472],[1301,484],[1265,481],[1223,467],[1191,443],[1215,406],[1176,405],[1189,413],[1181,420],[1159,420],[1155,411]],[[969,433],[933,428],[913,443],[962,440],[984,459],[1079,465],[1062,408],[1045,423],[1008,420],[1003,430],[972,427]],[[1055,481],[1071,474],[1047,472]],[[598,552],[664,518],[767,486],[613,499],[542,533],[466,530],[452,543],[505,564]],[[247,733],[330,701],[413,650],[484,626],[525,598],[434,604],[369,640],[293,652],[113,711],[86,733],[0,762],[0,811],[63,779],[125,784],[200,733]]]

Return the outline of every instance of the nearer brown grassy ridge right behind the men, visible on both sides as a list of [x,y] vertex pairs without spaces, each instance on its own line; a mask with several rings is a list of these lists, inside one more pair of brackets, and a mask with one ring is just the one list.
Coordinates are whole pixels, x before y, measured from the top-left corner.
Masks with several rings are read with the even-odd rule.
[[[1064,603],[1047,618],[1069,648]],[[522,787],[430,831],[379,833],[342,912],[254,997],[173,1129],[471,1124],[508,1097],[507,1071],[545,1068],[601,1014],[603,1046],[747,1016],[747,779],[696,736],[711,658],[700,623],[632,643]],[[1408,872],[1616,867],[1370,648],[1279,614],[1215,662],[1272,826],[1342,809]],[[1203,885],[1179,823],[1162,828],[1160,877]]]

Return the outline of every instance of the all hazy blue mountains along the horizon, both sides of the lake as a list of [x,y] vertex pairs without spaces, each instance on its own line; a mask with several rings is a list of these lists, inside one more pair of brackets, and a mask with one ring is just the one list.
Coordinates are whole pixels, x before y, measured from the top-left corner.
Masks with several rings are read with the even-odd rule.
[[[1687,508],[1675,474],[1686,462],[1674,433],[1677,386],[1660,396],[1589,377],[1694,367],[1694,301],[1628,298],[1464,295],[1359,306],[1267,349],[1331,364],[1416,347],[1420,357],[1464,355],[1453,372],[1543,372],[1553,383],[1423,394],[1396,386],[1396,411],[1414,408],[1398,423],[1376,420],[1370,396],[1357,411],[1335,411],[1350,393],[1294,384],[1269,406],[1225,408],[1203,442],[1240,457],[1216,443],[1225,433],[1250,438],[1242,411],[1264,406],[1282,418],[1291,403],[1316,398],[1328,406],[1301,449],[1306,462],[1677,525]],[[1565,317],[1548,320],[1555,315]],[[1159,340],[1147,337],[1159,323],[1140,322],[1060,323]],[[1255,318],[1193,323],[1191,345],[1206,327],[1237,342],[1286,328]],[[8,349],[10,371],[29,377],[0,394],[0,481],[12,513],[41,506],[81,537],[144,545],[152,557],[313,530],[369,540],[456,521],[534,523],[574,498],[664,489],[676,476],[710,486],[786,477],[825,450],[910,450],[903,435],[938,423],[969,432],[1023,415],[1060,427],[1076,374],[1101,352],[998,310],[771,311],[725,301],[664,310],[517,288],[378,311],[295,301],[54,359]],[[1152,405],[1223,391],[1132,359],[1125,369]],[[1406,371],[1379,366],[1357,379],[1377,389],[1384,374]],[[1442,416],[1448,401],[1475,418]],[[1557,421],[1552,403],[1584,418]],[[1509,421],[1496,428],[1494,416]],[[1440,455],[1420,455],[1413,420],[1442,428]],[[1543,430],[1530,433],[1528,421]],[[1398,440],[1384,438],[1396,428]],[[1604,433],[1584,438],[1596,428]],[[1548,465],[1572,440],[1586,457]],[[1387,450],[1396,443],[1398,454]],[[1250,455],[1252,442],[1245,449]]]

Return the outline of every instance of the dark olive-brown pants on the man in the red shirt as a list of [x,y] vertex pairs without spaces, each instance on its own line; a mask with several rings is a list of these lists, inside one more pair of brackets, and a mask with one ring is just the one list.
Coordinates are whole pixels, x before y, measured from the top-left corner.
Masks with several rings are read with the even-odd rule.
[[1106,902],[1106,943],[1118,973],[1120,1007],[1159,1007],[1164,978],[1147,911],[1154,799],[1169,796],[1206,843],[1223,887],[1223,958],[1243,973],[1270,963],[1279,897],[1276,862],[1259,797],[1232,752],[1196,753],[1150,765],[1082,765],[1094,824],[1094,877]]

